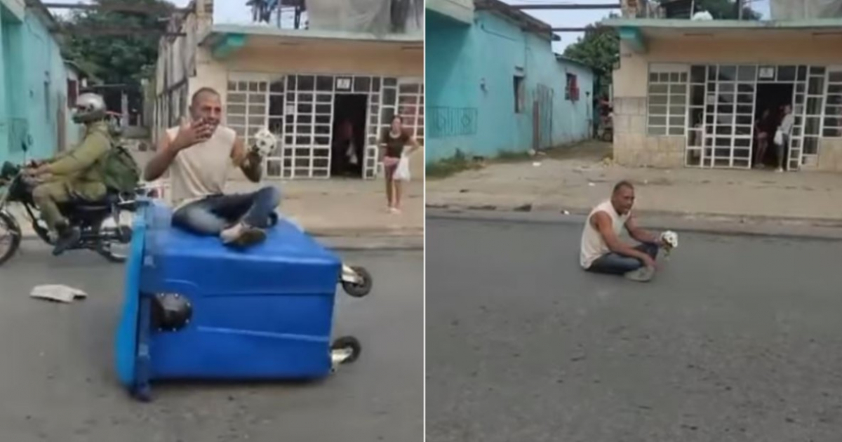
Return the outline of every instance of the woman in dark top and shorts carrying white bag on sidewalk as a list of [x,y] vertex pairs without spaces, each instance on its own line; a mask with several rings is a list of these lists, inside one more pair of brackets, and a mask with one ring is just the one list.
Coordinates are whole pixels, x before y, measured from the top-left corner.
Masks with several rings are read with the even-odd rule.
[[386,175],[386,202],[391,213],[400,213],[402,183],[409,181],[409,156],[418,150],[418,141],[404,130],[401,116],[395,115],[392,126],[383,131],[380,146]]

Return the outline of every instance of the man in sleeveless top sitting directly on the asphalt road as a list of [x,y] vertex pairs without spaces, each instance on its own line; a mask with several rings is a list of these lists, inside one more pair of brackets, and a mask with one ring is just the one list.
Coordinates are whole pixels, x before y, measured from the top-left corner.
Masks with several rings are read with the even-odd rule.
[[[652,280],[663,241],[637,226],[632,214],[634,186],[621,181],[614,186],[611,199],[591,210],[582,232],[579,256],[582,268],[602,274],[623,274],[626,278],[646,282]],[[623,230],[641,242],[632,247],[620,239]]]

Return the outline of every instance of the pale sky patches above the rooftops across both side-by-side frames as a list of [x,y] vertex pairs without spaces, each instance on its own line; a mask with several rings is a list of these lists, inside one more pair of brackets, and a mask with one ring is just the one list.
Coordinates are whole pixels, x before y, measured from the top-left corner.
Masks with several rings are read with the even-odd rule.
[[[170,0],[176,6],[184,8],[190,0]],[[341,0],[337,0],[341,1]],[[609,3],[616,0],[504,0],[509,4],[536,4],[536,3]],[[79,3],[79,0],[51,0],[51,3]],[[90,3],[83,0],[82,3]],[[751,0],[751,7],[765,17],[769,17],[769,0]],[[552,25],[554,28],[580,28],[604,19],[611,11],[608,9],[582,10],[582,11],[526,11]],[[619,11],[617,11],[619,12]],[[53,10],[59,14],[61,11]],[[285,19],[290,19],[285,17]],[[246,0],[215,0],[214,22],[228,24],[250,24],[252,22],[251,8],[246,6]],[[557,52],[563,52],[571,43],[575,43],[583,33],[562,32],[559,33],[562,40],[553,45]]]

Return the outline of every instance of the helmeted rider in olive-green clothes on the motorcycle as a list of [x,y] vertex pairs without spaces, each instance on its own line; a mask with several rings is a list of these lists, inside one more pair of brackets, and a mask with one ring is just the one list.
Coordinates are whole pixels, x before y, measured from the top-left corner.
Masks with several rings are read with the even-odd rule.
[[57,204],[74,200],[95,202],[107,194],[102,162],[111,147],[111,136],[106,117],[102,96],[80,94],[73,122],[84,125],[82,141],[72,150],[26,171],[40,181],[32,190],[32,199],[41,211],[41,218],[58,236],[54,255],[71,248],[81,237],[79,229],[70,225]]

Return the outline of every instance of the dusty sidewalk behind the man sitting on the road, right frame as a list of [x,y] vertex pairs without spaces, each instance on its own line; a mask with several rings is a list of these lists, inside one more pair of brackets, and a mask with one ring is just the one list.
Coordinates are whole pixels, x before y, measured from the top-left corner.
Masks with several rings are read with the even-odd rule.
[[623,168],[603,161],[608,152],[605,143],[589,141],[546,157],[431,179],[427,205],[583,214],[628,179],[637,188],[637,210],[650,215],[842,226],[842,174]]

